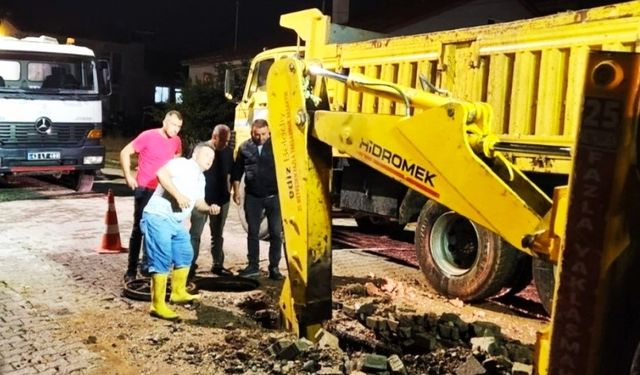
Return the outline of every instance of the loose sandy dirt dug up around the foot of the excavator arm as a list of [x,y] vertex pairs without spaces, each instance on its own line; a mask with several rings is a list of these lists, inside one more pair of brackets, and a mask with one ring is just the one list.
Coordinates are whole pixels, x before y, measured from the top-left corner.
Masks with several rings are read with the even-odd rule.
[[[104,359],[96,374],[357,374],[367,353],[391,353],[380,350],[380,337],[357,317],[345,314],[345,306],[372,304],[387,316],[454,312],[469,323],[493,322],[510,340],[525,344],[534,342],[535,331],[544,323],[446,300],[425,292],[420,284],[371,275],[364,285],[335,287],[334,318],[324,327],[340,339],[340,350],[311,347],[292,359],[279,359],[269,348],[297,338],[273,328],[281,282],[261,281],[258,291],[202,292],[200,304],[175,307],[180,322],[153,319],[147,303],[123,300],[127,309],[87,311],[66,324]],[[400,358],[409,374],[449,374],[470,355],[469,345],[461,342],[431,352],[407,351]]]

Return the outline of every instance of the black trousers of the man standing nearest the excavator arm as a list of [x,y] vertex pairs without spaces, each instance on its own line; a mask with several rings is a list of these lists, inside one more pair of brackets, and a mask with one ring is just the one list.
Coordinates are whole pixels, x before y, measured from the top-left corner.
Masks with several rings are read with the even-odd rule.
[[282,258],[282,214],[280,213],[280,202],[277,195],[266,198],[254,197],[246,194],[244,199],[244,213],[249,227],[247,235],[247,259],[248,268],[258,270],[260,261],[260,221],[262,210],[267,216],[269,225],[269,272],[277,271]]

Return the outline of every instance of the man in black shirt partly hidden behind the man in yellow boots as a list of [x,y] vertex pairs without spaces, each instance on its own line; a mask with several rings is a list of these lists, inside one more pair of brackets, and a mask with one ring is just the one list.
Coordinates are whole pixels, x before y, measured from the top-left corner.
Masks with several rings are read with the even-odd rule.
[[219,276],[233,275],[231,271],[223,266],[224,251],[222,249],[224,242],[222,232],[227,220],[231,198],[231,181],[229,177],[233,168],[233,150],[228,146],[230,135],[231,130],[229,127],[219,124],[213,128],[211,140],[209,141],[216,155],[211,168],[204,172],[206,178],[204,200],[209,205],[215,203],[220,206],[220,214],[209,215],[198,210],[192,211],[189,234],[191,235],[191,246],[193,247],[193,263],[191,264],[190,278],[195,276],[196,268],[198,267],[196,261],[200,253],[200,238],[202,237],[202,229],[207,222],[207,217],[209,217],[209,228],[211,229],[211,257],[213,258],[211,272]]

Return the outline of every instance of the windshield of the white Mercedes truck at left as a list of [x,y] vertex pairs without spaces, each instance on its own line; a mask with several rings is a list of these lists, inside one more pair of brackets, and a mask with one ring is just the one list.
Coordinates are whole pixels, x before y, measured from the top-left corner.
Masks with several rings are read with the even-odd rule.
[[88,56],[0,52],[0,93],[97,94]]

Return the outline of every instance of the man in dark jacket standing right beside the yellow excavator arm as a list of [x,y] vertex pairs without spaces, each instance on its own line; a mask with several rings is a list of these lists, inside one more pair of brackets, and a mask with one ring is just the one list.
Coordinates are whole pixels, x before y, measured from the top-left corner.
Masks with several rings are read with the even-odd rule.
[[264,210],[269,225],[269,278],[283,278],[278,269],[282,257],[282,215],[278,200],[275,161],[265,120],[251,124],[251,139],[243,142],[236,156],[231,181],[233,200],[240,204],[240,179],[244,174],[244,212],[249,227],[247,234],[247,258],[249,264],[240,271],[244,277],[260,275],[260,221]]

